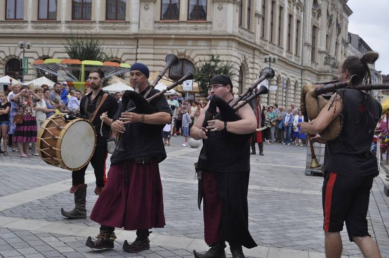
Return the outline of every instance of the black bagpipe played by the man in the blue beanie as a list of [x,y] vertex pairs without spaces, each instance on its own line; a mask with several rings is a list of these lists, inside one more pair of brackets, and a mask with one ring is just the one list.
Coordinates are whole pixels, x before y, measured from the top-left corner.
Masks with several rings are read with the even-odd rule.
[[[148,95],[151,93],[151,91],[154,89],[154,87],[158,84],[159,80],[165,74],[165,72],[170,67],[178,64],[178,58],[174,54],[168,54],[165,57],[165,62],[166,62],[165,67],[160,71],[157,78],[150,85],[149,89],[146,91],[146,93],[143,96],[134,90],[126,90],[123,93],[123,96],[122,96],[123,109],[127,108],[130,100],[133,103],[133,105],[131,105],[124,112],[134,112],[134,113],[145,114],[145,115],[153,114],[153,113],[157,112],[157,109],[155,108],[155,106],[153,106],[151,104],[152,100],[159,98],[166,91],[176,87],[177,85],[183,83],[184,81],[193,79],[193,77],[194,77],[193,73],[191,71],[187,71],[186,74],[182,78],[180,78],[177,82],[174,82],[173,84],[168,86],[166,89],[161,90],[160,92],[147,98]],[[128,124],[125,124],[125,129],[127,129],[127,127],[128,127]],[[124,138],[123,138],[122,134],[120,134],[118,137],[118,144],[116,145],[116,150],[117,151],[125,151]]]

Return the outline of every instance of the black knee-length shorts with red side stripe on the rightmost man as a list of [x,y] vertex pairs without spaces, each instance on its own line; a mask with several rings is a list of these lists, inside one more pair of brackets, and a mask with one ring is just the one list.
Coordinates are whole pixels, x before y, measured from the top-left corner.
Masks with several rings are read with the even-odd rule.
[[350,241],[353,237],[370,236],[366,216],[373,177],[327,172],[322,194],[324,232],[340,232],[346,222]]

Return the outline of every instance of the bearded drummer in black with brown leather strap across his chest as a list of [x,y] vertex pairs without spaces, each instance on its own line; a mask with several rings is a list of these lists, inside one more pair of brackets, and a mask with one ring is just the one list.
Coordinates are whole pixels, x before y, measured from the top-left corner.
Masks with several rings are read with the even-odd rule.
[[[95,152],[90,159],[90,163],[94,169],[96,177],[96,188],[94,193],[100,195],[106,183],[106,157],[108,155],[106,148],[106,139],[109,138],[110,125],[112,118],[118,110],[118,103],[116,99],[105,93],[102,90],[105,75],[102,70],[92,70],[89,73],[89,82],[92,89],[87,95],[81,99],[80,114],[85,115],[92,124],[97,133],[97,145]],[[97,112],[97,114],[95,114]],[[106,113],[106,116],[102,116]],[[100,127],[102,125],[101,118],[104,118],[103,128],[100,134]],[[89,164],[89,163],[88,163]],[[82,219],[87,217],[87,209],[85,207],[87,196],[87,184],[85,184],[85,171],[88,164],[79,171],[73,171],[71,174],[72,187],[70,193],[74,193],[75,208],[71,211],[65,211],[61,208],[61,214],[70,219]]]

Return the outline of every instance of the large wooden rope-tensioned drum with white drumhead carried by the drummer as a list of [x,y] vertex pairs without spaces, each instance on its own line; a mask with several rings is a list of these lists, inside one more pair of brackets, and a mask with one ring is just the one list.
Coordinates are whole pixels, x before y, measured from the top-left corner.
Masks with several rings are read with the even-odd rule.
[[49,165],[75,171],[89,162],[96,140],[96,131],[88,120],[65,120],[65,114],[54,114],[38,132],[38,153]]

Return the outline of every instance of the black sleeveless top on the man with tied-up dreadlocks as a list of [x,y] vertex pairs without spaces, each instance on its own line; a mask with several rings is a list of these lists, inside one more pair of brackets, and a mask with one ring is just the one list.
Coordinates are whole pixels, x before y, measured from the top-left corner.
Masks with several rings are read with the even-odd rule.
[[327,140],[324,168],[348,176],[377,174],[377,159],[370,148],[382,107],[370,94],[356,89],[338,91],[343,101],[340,136]]

